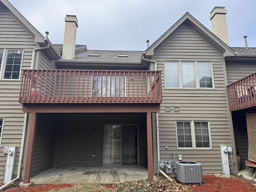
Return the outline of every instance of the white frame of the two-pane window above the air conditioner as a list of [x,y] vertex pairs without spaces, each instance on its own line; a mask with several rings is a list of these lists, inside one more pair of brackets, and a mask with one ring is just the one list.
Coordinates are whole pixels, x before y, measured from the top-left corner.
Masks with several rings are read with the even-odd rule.
[[[190,122],[190,130],[191,130],[191,138],[192,138],[192,147],[179,147],[179,146],[178,146],[178,128],[177,128],[177,122]],[[210,147],[196,147],[196,134],[195,134],[194,122],[207,122],[207,124],[208,124],[208,135],[209,135]],[[194,150],[194,149],[209,150],[209,149],[212,149],[212,137],[211,137],[210,121],[179,120],[179,121],[175,121],[175,128],[176,128],[176,146],[177,146],[177,149],[184,149],[184,150]]]

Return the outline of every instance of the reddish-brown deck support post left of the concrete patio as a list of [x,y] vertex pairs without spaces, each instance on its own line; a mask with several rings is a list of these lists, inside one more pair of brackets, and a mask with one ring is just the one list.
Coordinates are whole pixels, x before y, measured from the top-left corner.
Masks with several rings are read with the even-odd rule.
[[29,135],[28,135],[28,149],[27,149],[24,181],[23,181],[24,184],[27,184],[30,182],[33,148],[34,148],[34,141],[35,141],[35,135],[36,135],[36,120],[37,120],[37,114],[31,113]]

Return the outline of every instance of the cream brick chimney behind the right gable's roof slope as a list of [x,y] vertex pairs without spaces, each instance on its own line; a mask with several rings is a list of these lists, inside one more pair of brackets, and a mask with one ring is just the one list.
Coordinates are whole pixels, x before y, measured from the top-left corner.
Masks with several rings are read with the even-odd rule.
[[225,7],[214,7],[210,12],[210,20],[213,34],[229,46],[226,14]]

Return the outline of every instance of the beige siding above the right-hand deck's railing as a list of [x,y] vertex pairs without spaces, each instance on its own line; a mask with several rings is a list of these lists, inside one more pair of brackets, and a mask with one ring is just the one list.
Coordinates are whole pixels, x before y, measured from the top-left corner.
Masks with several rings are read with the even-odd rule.
[[255,62],[234,62],[226,61],[226,70],[228,84],[231,84],[237,80],[240,80],[254,72],[256,72],[256,63]]

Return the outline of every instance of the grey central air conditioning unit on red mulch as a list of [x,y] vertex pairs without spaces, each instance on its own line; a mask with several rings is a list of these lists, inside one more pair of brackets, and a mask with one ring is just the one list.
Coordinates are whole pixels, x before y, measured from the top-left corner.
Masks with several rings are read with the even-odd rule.
[[176,161],[176,180],[182,184],[203,184],[202,164],[195,161]]

